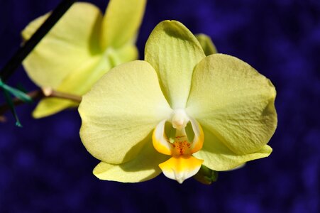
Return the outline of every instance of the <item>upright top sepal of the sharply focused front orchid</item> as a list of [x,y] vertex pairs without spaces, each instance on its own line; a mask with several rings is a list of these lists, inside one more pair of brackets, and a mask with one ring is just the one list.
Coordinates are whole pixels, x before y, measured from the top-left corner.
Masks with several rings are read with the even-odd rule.
[[184,108],[192,72],[204,58],[197,38],[178,21],[162,21],[145,44],[145,60],[158,72],[162,91],[172,109]]

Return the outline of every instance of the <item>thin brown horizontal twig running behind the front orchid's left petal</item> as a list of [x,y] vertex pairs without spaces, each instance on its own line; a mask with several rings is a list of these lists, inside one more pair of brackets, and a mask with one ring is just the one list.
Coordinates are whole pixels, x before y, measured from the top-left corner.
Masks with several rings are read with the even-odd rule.
[[[32,91],[32,92],[28,92],[27,93],[28,96],[31,97],[31,99],[33,99],[33,101],[39,100],[39,99],[43,99],[43,98],[59,98],[59,99],[67,99],[67,100],[71,100],[73,102],[77,102],[80,103],[82,100],[82,97],[74,95],[74,94],[68,94],[65,92],[58,92],[55,91],[54,89],[50,88],[50,87],[43,87],[41,89]],[[21,104],[25,104],[25,102],[21,101],[21,99],[17,99],[14,98],[12,100],[13,104],[15,106],[21,105]],[[6,121],[6,117],[3,116],[3,114],[8,111],[10,109],[8,104],[3,104],[0,106],[0,122],[5,122]]]

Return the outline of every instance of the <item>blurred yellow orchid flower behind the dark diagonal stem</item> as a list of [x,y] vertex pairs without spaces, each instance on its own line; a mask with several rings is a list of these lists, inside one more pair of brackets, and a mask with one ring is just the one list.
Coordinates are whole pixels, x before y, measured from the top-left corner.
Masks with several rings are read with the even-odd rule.
[[[93,4],[75,3],[23,61],[28,76],[39,87],[85,94],[112,67],[138,58],[134,43],[145,1],[110,0],[104,16]],[[31,38],[48,16],[32,21],[23,30],[23,39]],[[33,116],[49,116],[68,107],[77,103],[43,99]]]

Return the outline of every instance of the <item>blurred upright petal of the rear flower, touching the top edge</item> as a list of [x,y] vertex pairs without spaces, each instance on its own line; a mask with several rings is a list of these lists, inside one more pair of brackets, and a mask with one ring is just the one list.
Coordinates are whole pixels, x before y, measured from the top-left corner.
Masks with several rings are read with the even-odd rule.
[[101,47],[134,43],[145,11],[145,0],[111,0],[101,28]]

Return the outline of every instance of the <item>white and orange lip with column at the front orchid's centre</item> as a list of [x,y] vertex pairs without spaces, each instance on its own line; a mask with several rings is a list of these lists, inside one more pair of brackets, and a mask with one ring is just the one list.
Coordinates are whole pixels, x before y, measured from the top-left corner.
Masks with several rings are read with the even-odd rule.
[[[171,121],[172,128],[175,129],[175,138],[172,142],[165,133],[166,121]],[[185,129],[189,122],[194,131],[193,140],[189,140]],[[169,160],[159,164],[164,175],[180,183],[195,175],[203,160],[194,158],[192,154],[202,148],[203,141],[201,126],[196,120],[189,117],[184,109],[175,109],[170,119],[162,120],[153,132],[153,146],[159,153],[172,156]]]

